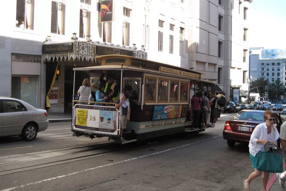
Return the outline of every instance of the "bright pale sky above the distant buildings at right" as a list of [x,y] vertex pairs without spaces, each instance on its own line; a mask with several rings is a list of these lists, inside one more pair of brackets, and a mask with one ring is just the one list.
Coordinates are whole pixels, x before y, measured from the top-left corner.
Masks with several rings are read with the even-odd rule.
[[247,17],[249,47],[286,50],[286,0],[253,0]]

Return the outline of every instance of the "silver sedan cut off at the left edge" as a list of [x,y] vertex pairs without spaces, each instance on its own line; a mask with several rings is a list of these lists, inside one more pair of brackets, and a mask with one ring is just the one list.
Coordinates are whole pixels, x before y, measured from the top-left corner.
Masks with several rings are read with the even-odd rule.
[[48,125],[45,109],[34,108],[22,100],[0,97],[0,137],[21,136],[25,141],[33,141]]

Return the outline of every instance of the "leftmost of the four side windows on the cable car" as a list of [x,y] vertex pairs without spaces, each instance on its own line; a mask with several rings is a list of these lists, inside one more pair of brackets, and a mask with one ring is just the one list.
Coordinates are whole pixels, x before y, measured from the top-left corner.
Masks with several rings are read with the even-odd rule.
[[153,77],[145,78],[144,87],[145,87],[144,100],[149,103],[156,102],[156,78]]

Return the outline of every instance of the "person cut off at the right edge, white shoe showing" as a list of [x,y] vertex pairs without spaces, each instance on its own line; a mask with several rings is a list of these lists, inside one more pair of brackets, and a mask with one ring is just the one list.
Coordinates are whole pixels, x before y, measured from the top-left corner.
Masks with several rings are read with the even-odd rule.
[[[286,123],[283,123],[280,127],[280,144],[282,147],[283,160],[286,163]],[[285,188],[286,171],[283,173],[277,173],[279,184],[282,188]]]

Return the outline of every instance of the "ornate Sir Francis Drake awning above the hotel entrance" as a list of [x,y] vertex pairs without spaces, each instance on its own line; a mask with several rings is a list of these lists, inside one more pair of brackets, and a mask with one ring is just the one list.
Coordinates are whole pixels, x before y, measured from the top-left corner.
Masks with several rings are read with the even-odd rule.
[[44,61],[94,62],[96,57],[109,54],[128,55],[147,60],[144,45],[141,46],[141,50],[138,50],[136,44],[121,46],[106,42],[92,42],[90,35],[87,35],[84,42],[78,40],[77,33],[73,33],[71,41],[68,42],[52,42],[51,36],[48,36],[43,43],[42,53]]

